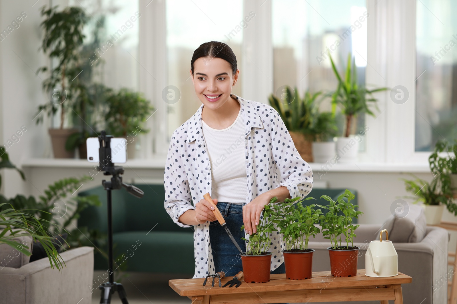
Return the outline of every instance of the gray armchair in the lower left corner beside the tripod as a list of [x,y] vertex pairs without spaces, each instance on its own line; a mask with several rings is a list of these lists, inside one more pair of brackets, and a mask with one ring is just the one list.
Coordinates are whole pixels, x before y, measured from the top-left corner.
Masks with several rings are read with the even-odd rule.
[[[31,243],[31,237],[28,243]],[[3,261],[0,266],[0,304],[91,303],[93,247],[62,252],[60,256],[65,265],[59,272],[56,268],[51,269],[48,258],[28,263],[28,257],[22,253],[15,252],[8,258],[5,255],[7,245],[0,246]]]

